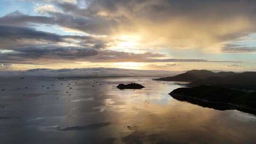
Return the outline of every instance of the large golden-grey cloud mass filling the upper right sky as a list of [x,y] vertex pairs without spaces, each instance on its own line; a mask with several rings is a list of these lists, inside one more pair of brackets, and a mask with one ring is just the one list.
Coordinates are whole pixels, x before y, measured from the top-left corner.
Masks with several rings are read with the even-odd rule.
[[[171,47],[215,48],[255,32],[252,0],[91,0],[87,9],[56,3],[73,15],[113,20],[114,33],[136,33]],[[108,27],[109,28],[109,27]]]

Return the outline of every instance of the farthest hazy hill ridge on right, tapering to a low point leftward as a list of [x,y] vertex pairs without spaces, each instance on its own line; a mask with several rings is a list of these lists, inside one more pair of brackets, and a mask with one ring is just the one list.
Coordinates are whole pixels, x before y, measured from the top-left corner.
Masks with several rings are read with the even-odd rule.
[[211,72],[207,70],[191,70],[176,76],[154,79],[156,81],[197,81],[208,77],[223,77],[234,75],[235,72]]

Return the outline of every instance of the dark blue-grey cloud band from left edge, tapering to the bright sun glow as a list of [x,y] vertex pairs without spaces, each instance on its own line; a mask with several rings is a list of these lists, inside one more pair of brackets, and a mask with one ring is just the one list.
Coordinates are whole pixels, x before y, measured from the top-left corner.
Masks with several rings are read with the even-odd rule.
[[104,49],[110,40],[93,36],[60,36],[29,27],[0,26],[0,49],[13,49],[17,46],[56,45],[60,42]]

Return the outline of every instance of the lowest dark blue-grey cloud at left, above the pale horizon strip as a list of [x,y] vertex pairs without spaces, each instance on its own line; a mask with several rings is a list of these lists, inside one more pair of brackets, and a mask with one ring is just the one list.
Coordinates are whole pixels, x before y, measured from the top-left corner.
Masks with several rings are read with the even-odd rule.
[[68,63],[83,61],[85,57],[97,55],[98,51],[84,47],[34,46],[12,48],[11,53],[0,53],[2,63]]

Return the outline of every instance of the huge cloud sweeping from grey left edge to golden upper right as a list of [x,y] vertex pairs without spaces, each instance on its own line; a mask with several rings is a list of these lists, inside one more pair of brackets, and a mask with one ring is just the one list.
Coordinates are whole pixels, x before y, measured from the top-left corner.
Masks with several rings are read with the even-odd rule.
[[256,32],[253,0],[51,0],[50,4],[62,12],[45,10],[47,16],[15,12],[1,17],[0,24],[50,24],[93,35],[134,34],[154,45],[202,49],[219,49],[223,42]]

